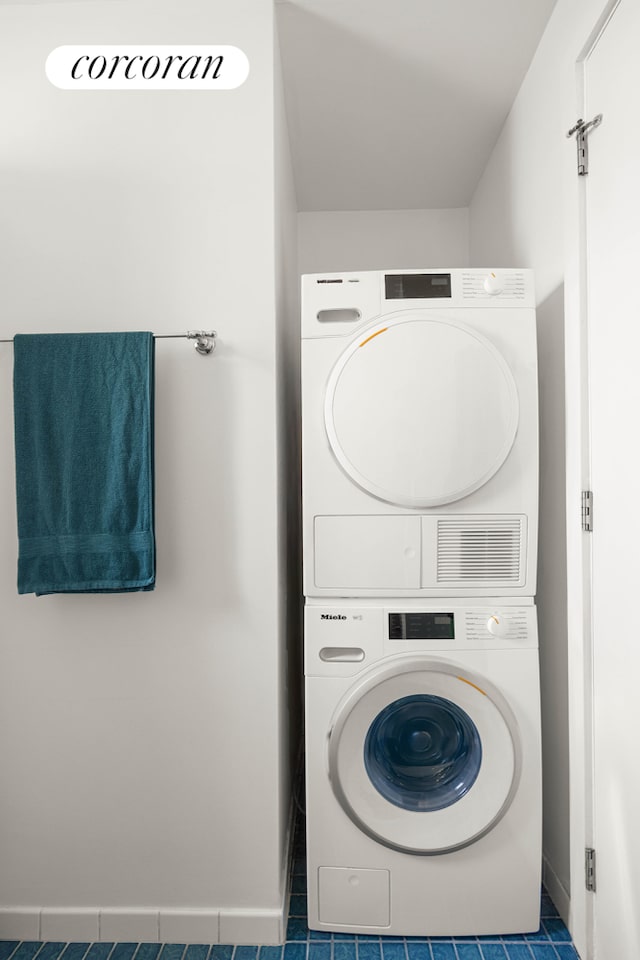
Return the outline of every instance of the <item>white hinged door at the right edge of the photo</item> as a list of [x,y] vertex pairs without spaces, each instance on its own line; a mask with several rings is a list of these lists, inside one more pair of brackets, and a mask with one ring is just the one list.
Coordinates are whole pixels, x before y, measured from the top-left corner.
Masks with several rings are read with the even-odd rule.
[[640,950],[640,3],[620,0],[584,62],[597,960]]

